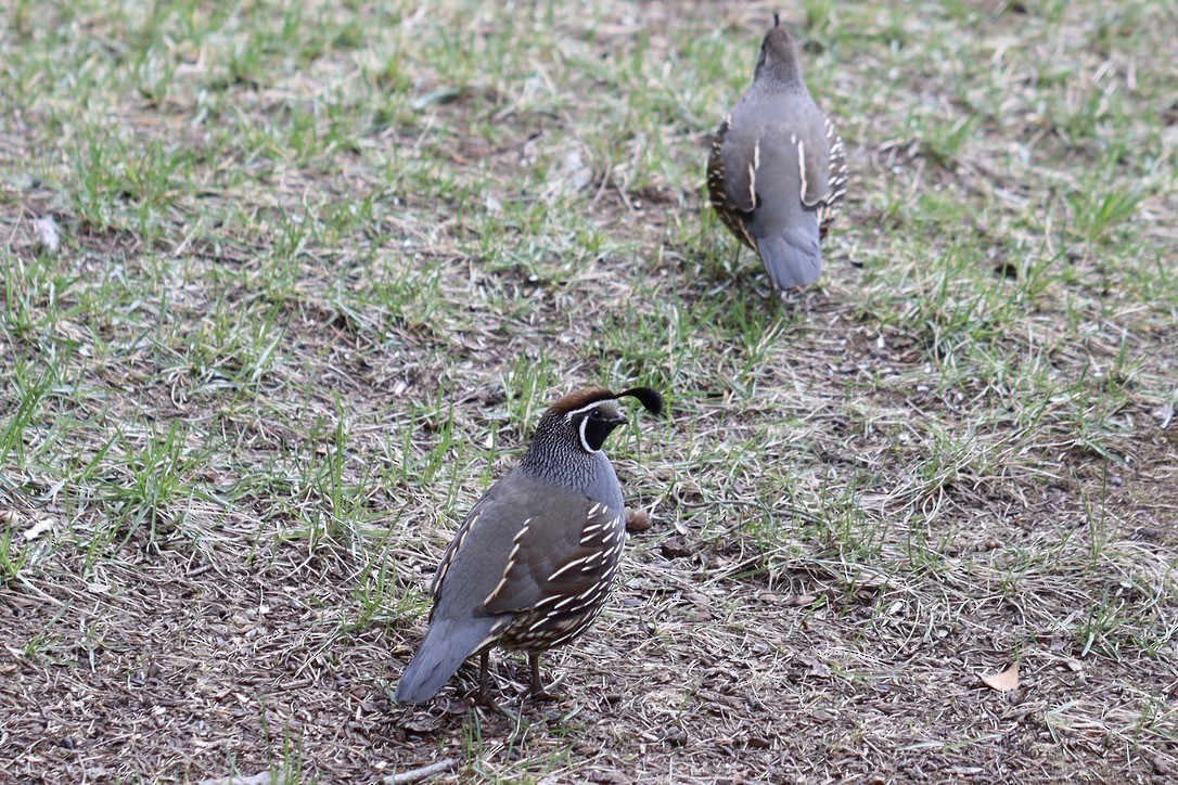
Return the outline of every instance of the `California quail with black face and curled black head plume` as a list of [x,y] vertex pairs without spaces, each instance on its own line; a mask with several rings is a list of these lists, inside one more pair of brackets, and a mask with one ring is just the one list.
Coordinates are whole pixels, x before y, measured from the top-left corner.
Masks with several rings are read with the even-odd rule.
[[648,387],[564,395],[541,418],[523,460],[466,515],[434,576],[429,631],[397,685],[398,703],[429,700],[475,653],[485,698],[494,646],[528,652],[531,694],[544,697],[540,653],[593,624],[622,558],[622,488],[601,448],[627,421],[617,400],[626,395],[662,412]]

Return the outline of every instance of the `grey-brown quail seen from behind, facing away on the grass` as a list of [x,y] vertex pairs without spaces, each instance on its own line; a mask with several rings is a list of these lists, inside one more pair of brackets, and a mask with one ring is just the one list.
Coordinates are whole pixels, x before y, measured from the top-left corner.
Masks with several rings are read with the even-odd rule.
[[712,205],[761,254],[773,287],[786,292],[822,274],[819,239],[846,185],[842,139],[806,89],[798,42],[774,14],[753,86],[712,142]]

